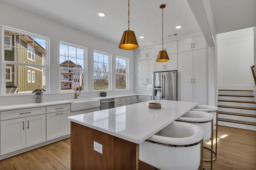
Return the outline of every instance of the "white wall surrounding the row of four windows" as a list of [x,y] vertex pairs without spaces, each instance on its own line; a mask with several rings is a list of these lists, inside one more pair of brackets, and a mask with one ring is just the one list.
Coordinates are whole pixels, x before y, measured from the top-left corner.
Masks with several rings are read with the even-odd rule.
[[[85,21],[83,21],[85,22]],[[88,23],[90,24],[90,23]],[[64,100],[74,98],[74,92],[60,93],[60,70],[59,70],[59,41],[73,43],[87,47],[87,66],[88,66],[88,92],[82,93],[79,97],[90,98],[99,96],[99,92],[93,92],[93,50],[103,51],[112,54],[112,72],[115,72],[116,55],[129,59],[129,77],[128,84],[130,90],[114,90],[115,76],[112,77],[112,89],[108,95],[133,93],[133,51],[121,50],[118,44],[111,43],[99,37],[84,33],[70,26],[63,25],[56,21],[32,14],[20,8],[16,8],[0,1],[0,25],[6,25],[23,31],[36,33],[50,37],[50,94],[44,94],[44,101]],[[120,35],[121,38],[122,35]],[[2,40],[2,35],[0,35]],[[2,41],[0,41],[0,51],[2,51]],[[0,54],[2,55],[2,53]],[[2,59],[3,57],[0,56]],[[2,68],[1,68],[2,72]],[[2,73],[0,74],[2,75]],[[115,75],[115,74],[114,74]],[[2,77],[0,78],[2,79]],[[5,89],[5,84],[0,80],[0,88]],[[33,102],[33,94],[0,96],[0,105],[18,104]]]

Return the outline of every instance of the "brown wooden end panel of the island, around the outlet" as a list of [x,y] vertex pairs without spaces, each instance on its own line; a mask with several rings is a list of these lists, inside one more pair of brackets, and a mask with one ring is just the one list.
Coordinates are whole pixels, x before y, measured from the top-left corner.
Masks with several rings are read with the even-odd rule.
[[[93,149],[100,143],[102,154]],[[71,170],[138,170],[138,144],[71,122]]]

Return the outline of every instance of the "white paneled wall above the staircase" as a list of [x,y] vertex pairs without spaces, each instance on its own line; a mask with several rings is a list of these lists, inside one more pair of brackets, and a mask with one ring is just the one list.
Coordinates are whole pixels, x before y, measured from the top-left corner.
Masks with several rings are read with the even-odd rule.
[[218,34],[218,88],[252,89],[252,28]]

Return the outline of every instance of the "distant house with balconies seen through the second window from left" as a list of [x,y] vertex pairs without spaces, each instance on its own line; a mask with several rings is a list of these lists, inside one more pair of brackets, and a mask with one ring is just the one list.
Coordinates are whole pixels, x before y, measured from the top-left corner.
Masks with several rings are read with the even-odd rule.
[[69,68],[82,68],[80,65],[74,64],[72,61],[64,61],[60,64],[62,68],[60,70],[60,89],[61,90],[71,90],[75,89],[76,86],[83,86],[82,74],[80,71],[70,70]]

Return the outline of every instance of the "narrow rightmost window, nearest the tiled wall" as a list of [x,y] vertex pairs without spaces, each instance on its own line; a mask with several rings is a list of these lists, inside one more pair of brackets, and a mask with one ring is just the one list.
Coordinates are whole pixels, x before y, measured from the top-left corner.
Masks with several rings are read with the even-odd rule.
[[126,89],[128,59],[116,57],[116,89]]

